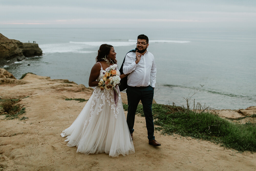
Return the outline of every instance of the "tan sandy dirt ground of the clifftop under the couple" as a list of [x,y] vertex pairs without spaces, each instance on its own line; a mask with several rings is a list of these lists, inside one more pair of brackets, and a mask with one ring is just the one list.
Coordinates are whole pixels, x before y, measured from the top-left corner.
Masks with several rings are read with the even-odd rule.
[[[3,78],[0,83],[0,97],[22,98],[19,104],[26,113],[20,117],[28,117],[20,121],[0,115],[0,170],[256,170],[256,153],[239,153],[208,141],[155,131],[162,145],[153,147],[148,144],[145,118],[140,116],[135,117],[135,154],[112,158],[104,153],[76,153],[77,148],[66,146],[60,133],[86,102],[65,98],[88,99],[92,89],[33,74],[22,80]],[[122,93],[124,103],[126,98]],[[218,111],[222,117],[232,115],[223,111]]]

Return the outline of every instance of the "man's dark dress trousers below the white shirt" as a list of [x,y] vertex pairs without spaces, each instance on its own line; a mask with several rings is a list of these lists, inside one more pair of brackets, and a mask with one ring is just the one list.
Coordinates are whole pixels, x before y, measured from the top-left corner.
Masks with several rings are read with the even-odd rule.
[[143,112],[146,119],[147,138],[149,140],[155,139],[154,136],[154,121],[152,116],[152,102],[154,97],[154,88],[148,86],[143,89],[128,86],[126,89],[128,100],[128,113],[127,113],[127,125],[130,133],[133,133],[134,119],[137,106],[141,100],[143,106]]

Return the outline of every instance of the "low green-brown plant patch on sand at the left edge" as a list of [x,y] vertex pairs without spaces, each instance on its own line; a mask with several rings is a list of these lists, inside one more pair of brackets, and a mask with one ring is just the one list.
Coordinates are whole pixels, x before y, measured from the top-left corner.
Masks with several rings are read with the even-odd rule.
[[0,99],[0,115],[5,115],[5,118],[10,120],[26,113],[25,107],[20,108],[16,105],[19,101],[20,99]]

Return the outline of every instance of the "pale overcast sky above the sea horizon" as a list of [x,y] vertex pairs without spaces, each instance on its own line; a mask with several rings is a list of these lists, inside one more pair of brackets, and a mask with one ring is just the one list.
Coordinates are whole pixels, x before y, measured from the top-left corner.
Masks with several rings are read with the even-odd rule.
[[0,0],[1,27],[256,27],[256,0]]

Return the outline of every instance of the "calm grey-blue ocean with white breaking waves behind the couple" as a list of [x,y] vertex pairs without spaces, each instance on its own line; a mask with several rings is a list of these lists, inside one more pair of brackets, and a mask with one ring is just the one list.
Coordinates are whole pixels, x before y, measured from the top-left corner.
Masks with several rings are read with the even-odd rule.
[[[33,42],[40,57],[1,66],[19,79],[32,72],[88,87],[99,46],[114,46],[121,66],[139,34],[149,37],[157,66],[154,99],[160,104],[191,104],[216,109],[256,106],[256,30],[242,28],[0,28],[23,43]],[[28,66],[30,64],[30,66]],[[185,105],[186,106],[186,105]]]

